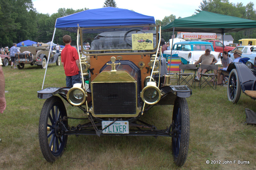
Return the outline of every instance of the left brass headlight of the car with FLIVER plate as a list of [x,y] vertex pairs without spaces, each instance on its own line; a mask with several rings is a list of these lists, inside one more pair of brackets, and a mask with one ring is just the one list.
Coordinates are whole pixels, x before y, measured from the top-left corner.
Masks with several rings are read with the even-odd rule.
[[81,83],[76,83],[71,89],[69,89],[67,94],[68,102],[74,106],[82,105],[87,97],[87,92],[82,87]]

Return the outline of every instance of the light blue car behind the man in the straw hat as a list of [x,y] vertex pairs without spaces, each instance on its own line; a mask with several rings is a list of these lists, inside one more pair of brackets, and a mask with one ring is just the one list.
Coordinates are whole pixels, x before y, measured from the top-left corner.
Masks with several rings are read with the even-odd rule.
[[230,58],[232,60],[234,60],[234,53],[232,53],[233,51],[235,51],[236,49],[242,51],[242,57],[248,57],[250,58],[250,60],[248,60],[245,65],[249,68],[252,69],[253,68],[253,64],[254,64],[254,59],[256,57],[256,51],[251,51],[251,47],[253,47],[254,49],[256,49],[256,45],[255,46],[237,46],[235,49],[233,49],[230,52]]

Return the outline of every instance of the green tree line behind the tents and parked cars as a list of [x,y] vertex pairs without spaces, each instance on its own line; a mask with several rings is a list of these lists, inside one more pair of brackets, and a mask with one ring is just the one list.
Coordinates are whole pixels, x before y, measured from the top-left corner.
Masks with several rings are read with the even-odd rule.
[[[114,0],[106,0],[103,7],[106,6],[117,7]],[[254,4],[252,2],[244,6],[242,3],[229,3],[228,0],[203,0],[200,3],[199,9],[195,10],[195,14],[204,10],[255,20],[256,11],[253,8]],[[13,42],[18,43],[25,40],[32,40],[36,42],[52,41],[55,21],[57,18],[87,9],[88,8],[86,7],[78,10],[73,10],[72,8],[59,8],[57,13],[49,15],[38,13],[36,9],[33,8],[32,0],[1,0],[0,46],[12,46]],[[156,24],[165,26],[171,23],[174,19],[176,19],[176,16],[171,14],[170,16],[165,16],[162,21],[156,20]],[[76,33],[56,29],[54,42],[64,45],[62,37],[65,34],[69,34],[72,39],[76,39]],[[230,34],[235,39],[234,42],[238,43],[238,40],[241,38],[256,38],[256,29]],[[168,41],[171,36],[172,33],[162,33],[162,37],[165,41]],[[75,43],[75,41],[73,43]]]

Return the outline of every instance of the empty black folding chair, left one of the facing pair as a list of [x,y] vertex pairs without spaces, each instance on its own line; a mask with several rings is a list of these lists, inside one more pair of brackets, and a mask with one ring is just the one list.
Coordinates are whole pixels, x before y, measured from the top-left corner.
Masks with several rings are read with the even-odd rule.
[[[180,70],[180,72],[176,73],[177,76],[179,76],[177,85],[180,85],[184,82],[185,85],[189,85],[191,87],[194,86],[194,88],[196,88],[196,82],[195,82],[196,64],[180,64],[179,70]],[[192,72],[185,73],[184,70],[194,70],[195,72],[194,73],[192,73]],[[192,83],[191,83],[191,80],[192,80]]]

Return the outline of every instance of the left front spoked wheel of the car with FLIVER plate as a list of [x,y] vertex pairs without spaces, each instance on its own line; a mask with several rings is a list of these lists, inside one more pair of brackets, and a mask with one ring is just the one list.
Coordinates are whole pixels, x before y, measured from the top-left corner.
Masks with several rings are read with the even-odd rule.
[[60,97],[52,96],[44,102],[39,118],[38,137],[41,151],[48,162],[58,159],[66,148],[68,136],[63,135],[64,129],[60,124],[63,122],[68,127],[68,120],[62,120],[64,116],[67,116],[67,112]]

